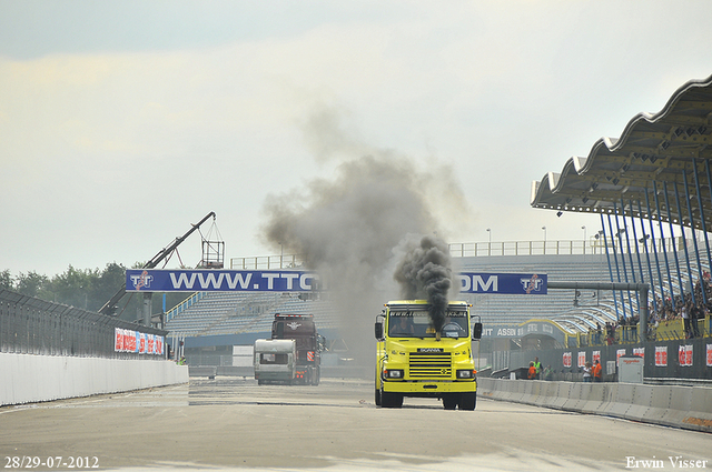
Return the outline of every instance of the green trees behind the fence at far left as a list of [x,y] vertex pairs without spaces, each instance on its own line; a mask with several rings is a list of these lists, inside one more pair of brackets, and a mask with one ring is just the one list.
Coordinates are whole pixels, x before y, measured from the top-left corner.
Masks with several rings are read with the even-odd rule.
[[[140,269],[142,263],[134,264]],[[126,267],[116,262],[108,263],[102,270],[77,269],[72,265],[52,277],[36,271],[20,272],[12,275],[9,270],[0,272],[0,290],[6,289],[28,297],[36,297],[50,302],[62,303],[88,311],[97,312],[126,282]],[[187,293],[167,293],[166,310],[170,310],[188,297]],[[154,297],[151,312],[162,311],[164,298]],[[142,319],[142,297],[127,293],[119,302],[117,314],[122,320]]]

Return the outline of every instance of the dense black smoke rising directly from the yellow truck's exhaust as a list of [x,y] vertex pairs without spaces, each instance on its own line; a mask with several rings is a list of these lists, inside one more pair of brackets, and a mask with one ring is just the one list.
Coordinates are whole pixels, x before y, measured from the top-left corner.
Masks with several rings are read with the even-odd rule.
[[445,241],[423,237],[406,242],[406,252],[394,279],[400,284],[405,299],[427,300],[433,328],[441,332],[447,314],[447,292],[452,285],[452,261]]

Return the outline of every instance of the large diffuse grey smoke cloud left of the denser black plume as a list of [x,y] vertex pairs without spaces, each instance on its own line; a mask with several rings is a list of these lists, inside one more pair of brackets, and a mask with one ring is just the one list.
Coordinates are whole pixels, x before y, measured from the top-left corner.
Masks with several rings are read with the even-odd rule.
[[394,248],[435,224],[423,179],[406,160],[365,157],[339,165],[334,180],[271,195],[265,205],[266,238],[326,281],[348,355],[363,365],[374,358],[375,315],[395,291],[388,293]]

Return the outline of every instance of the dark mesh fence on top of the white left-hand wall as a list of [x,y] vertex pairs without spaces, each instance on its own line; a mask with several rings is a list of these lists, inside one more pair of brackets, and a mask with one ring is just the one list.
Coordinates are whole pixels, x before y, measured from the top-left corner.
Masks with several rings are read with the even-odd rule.
[[115,352],[116,329],[168,332],[75,307],[0,290],[0,352],[117,359],[156,355]]

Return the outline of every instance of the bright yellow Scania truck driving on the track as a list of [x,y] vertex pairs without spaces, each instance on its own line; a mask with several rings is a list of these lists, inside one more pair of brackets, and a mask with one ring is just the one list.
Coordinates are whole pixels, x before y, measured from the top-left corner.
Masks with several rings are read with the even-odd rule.
[[482,337],[466,302],[449,302],[439,331],[425,300],[385,304],[376,317],[376,405],[403,406],[404,396],[436,398],[445,410],[474,410],[477,378],[472,341]]

